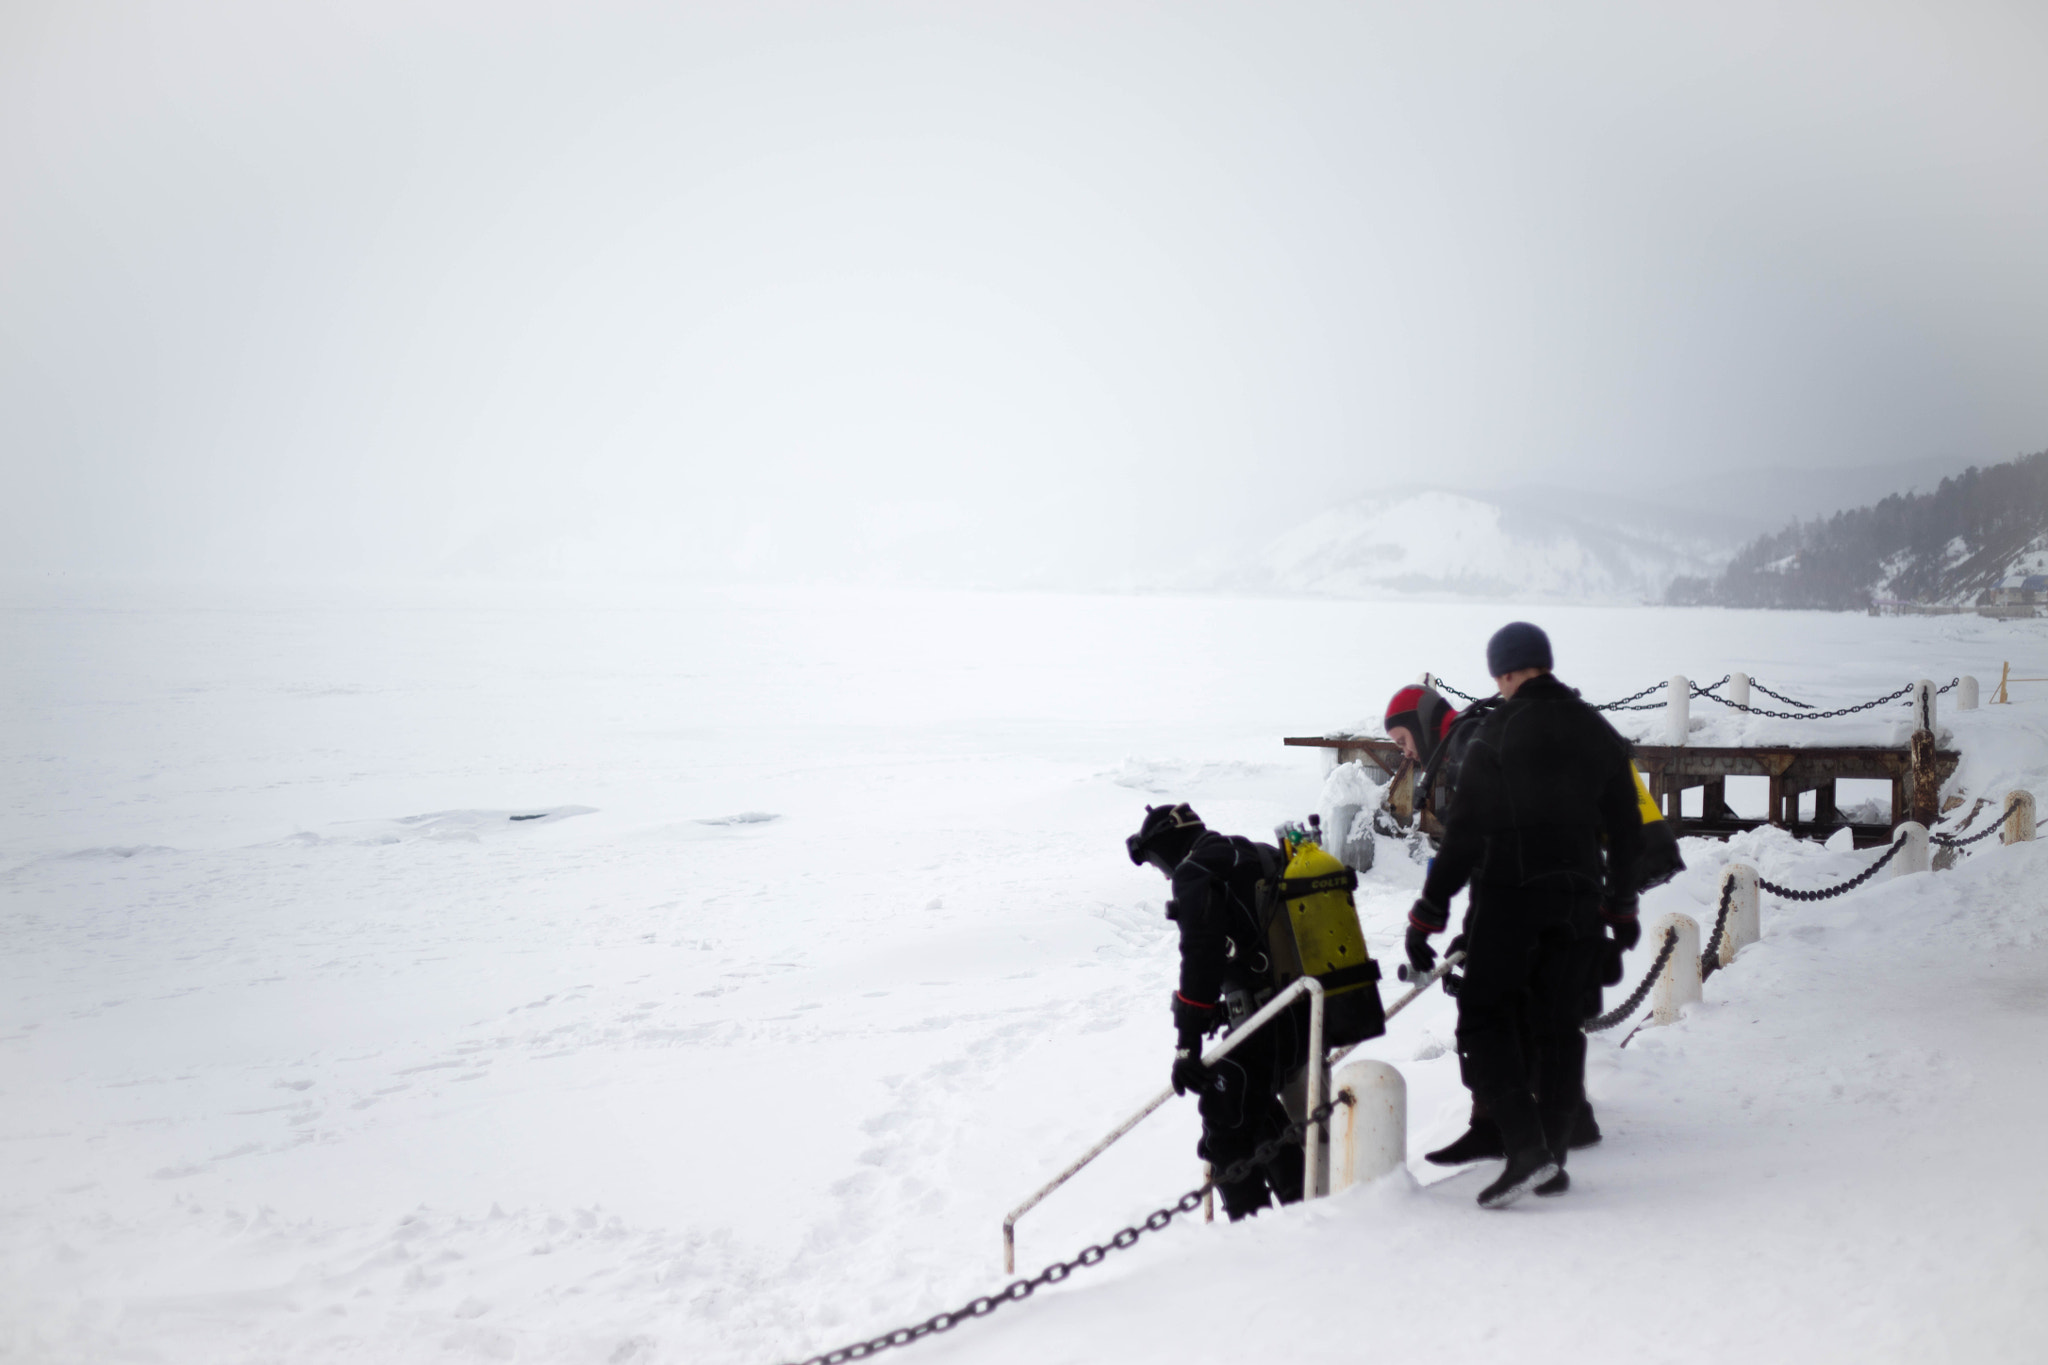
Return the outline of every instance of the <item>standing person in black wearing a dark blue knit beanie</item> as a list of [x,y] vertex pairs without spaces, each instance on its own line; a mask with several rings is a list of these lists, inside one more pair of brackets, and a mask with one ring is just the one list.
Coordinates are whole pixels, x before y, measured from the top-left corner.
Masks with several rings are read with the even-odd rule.
[[1530,1189],[1569,1187],[1565,1150],[1585,1099],[1581,1001],[1606,954],[1602,921],[1622,948],[1640,935],[1642,812],[1628,741],[1550,675],[1540,628],[1501,626],[1487,671],[1503,702],[1464,751],[1407,952],[1415,970],[1436,966],[1430,935],[1470,884],[1458,1060],[1507,1150],[1479,1203],[1505,1207]]

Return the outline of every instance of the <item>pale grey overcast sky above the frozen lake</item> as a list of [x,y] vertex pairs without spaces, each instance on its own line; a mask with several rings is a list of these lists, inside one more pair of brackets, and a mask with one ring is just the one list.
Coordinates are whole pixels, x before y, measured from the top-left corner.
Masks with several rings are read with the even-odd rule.
[[10,0],[0,571],[1114,579],[2009,458],[2044,72],[2038,2]]

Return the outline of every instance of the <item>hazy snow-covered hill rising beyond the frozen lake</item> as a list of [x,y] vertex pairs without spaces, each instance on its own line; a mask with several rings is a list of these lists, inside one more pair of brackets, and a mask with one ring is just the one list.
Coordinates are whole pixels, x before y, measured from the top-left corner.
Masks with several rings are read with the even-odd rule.
[[1675,528],[1640,505],[1423,489],[1317,514],[1268,544],[1243,581],[1331,598],[1655,602],[1671,579],[1716,571],[1733,551],[1716,522]]

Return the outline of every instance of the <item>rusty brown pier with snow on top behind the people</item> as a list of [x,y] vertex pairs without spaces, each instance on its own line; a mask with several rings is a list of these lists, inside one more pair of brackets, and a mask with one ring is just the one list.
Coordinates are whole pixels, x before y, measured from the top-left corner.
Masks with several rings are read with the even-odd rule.
[[[1282,743],[1335,749],[1339,763],[1372,763],[1395,782],[1389,802],[1395,817],[1401,823],[1415,819],[1413,763],[1395,741],[1370,735],[1315,735],[1288,737]],[[1847,825],[1858,847],[1890,843],[1892,827],[1907,819],[1933,825],[1939,814],[1942,784],[1956,772],[1958,757],[1954,749],[1935,749],[1933,737],[1925,731],[1917,733],[1911,745],[1898,749],[1876,745],[1810,749],[1796,745],[1735,749],[1636,745],[1636,767],[1642,769],[1651,796],[1679,835],[1726,839],[1759,825],[1778,825],[1802,839],[1825,839],[1847,825],[1835,804],[1837,782],[1843,778],[1890,782],[1892,819],[1882,825]],[[1761,821],[1739,817],[1729,808],[1729,778],[1765,778],[1769,782]],[[1700,814],[1696,817],[1679,812],[1688,788],[1702,788]],[[1815,794],[1815,810],[1810,821],[1800,821],[1798,798],[1806,792]],[[1421,821],[1423,829],[1436,833],[1436,817],[1427,808],[1421,812]]]

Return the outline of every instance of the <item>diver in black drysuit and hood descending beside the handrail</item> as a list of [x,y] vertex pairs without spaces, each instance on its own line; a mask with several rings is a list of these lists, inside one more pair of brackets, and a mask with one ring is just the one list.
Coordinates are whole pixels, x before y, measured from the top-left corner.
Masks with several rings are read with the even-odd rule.
[[[1288,1009],[1217,1066],[1202,1066],[1202,1040],[1235,1023],[1272,995],[1255,888],[1278,874],[1280,851],[1221,835],[1188,806],[1147,806],[1145,825],[1124,841],[1130,862],[1151,864],[1174,882],[1165,913],[1180,925],[1180,988],[1174,993],[1174,1091],[1194,1091],[1202,1111],[1196,1154],[1223,1173],[1288,1126],[1280,1087],[1307,1058],[1307,1009]],[[1235,1003],[1235,1009],[1233,1009]],[[1305,1005],[1305,1003],[1300,1003]],[[1303,1150],[1288,1144],[1266,1166],[1219,1183],[1231,1220],[1276,1197],[1300,1199]]]

